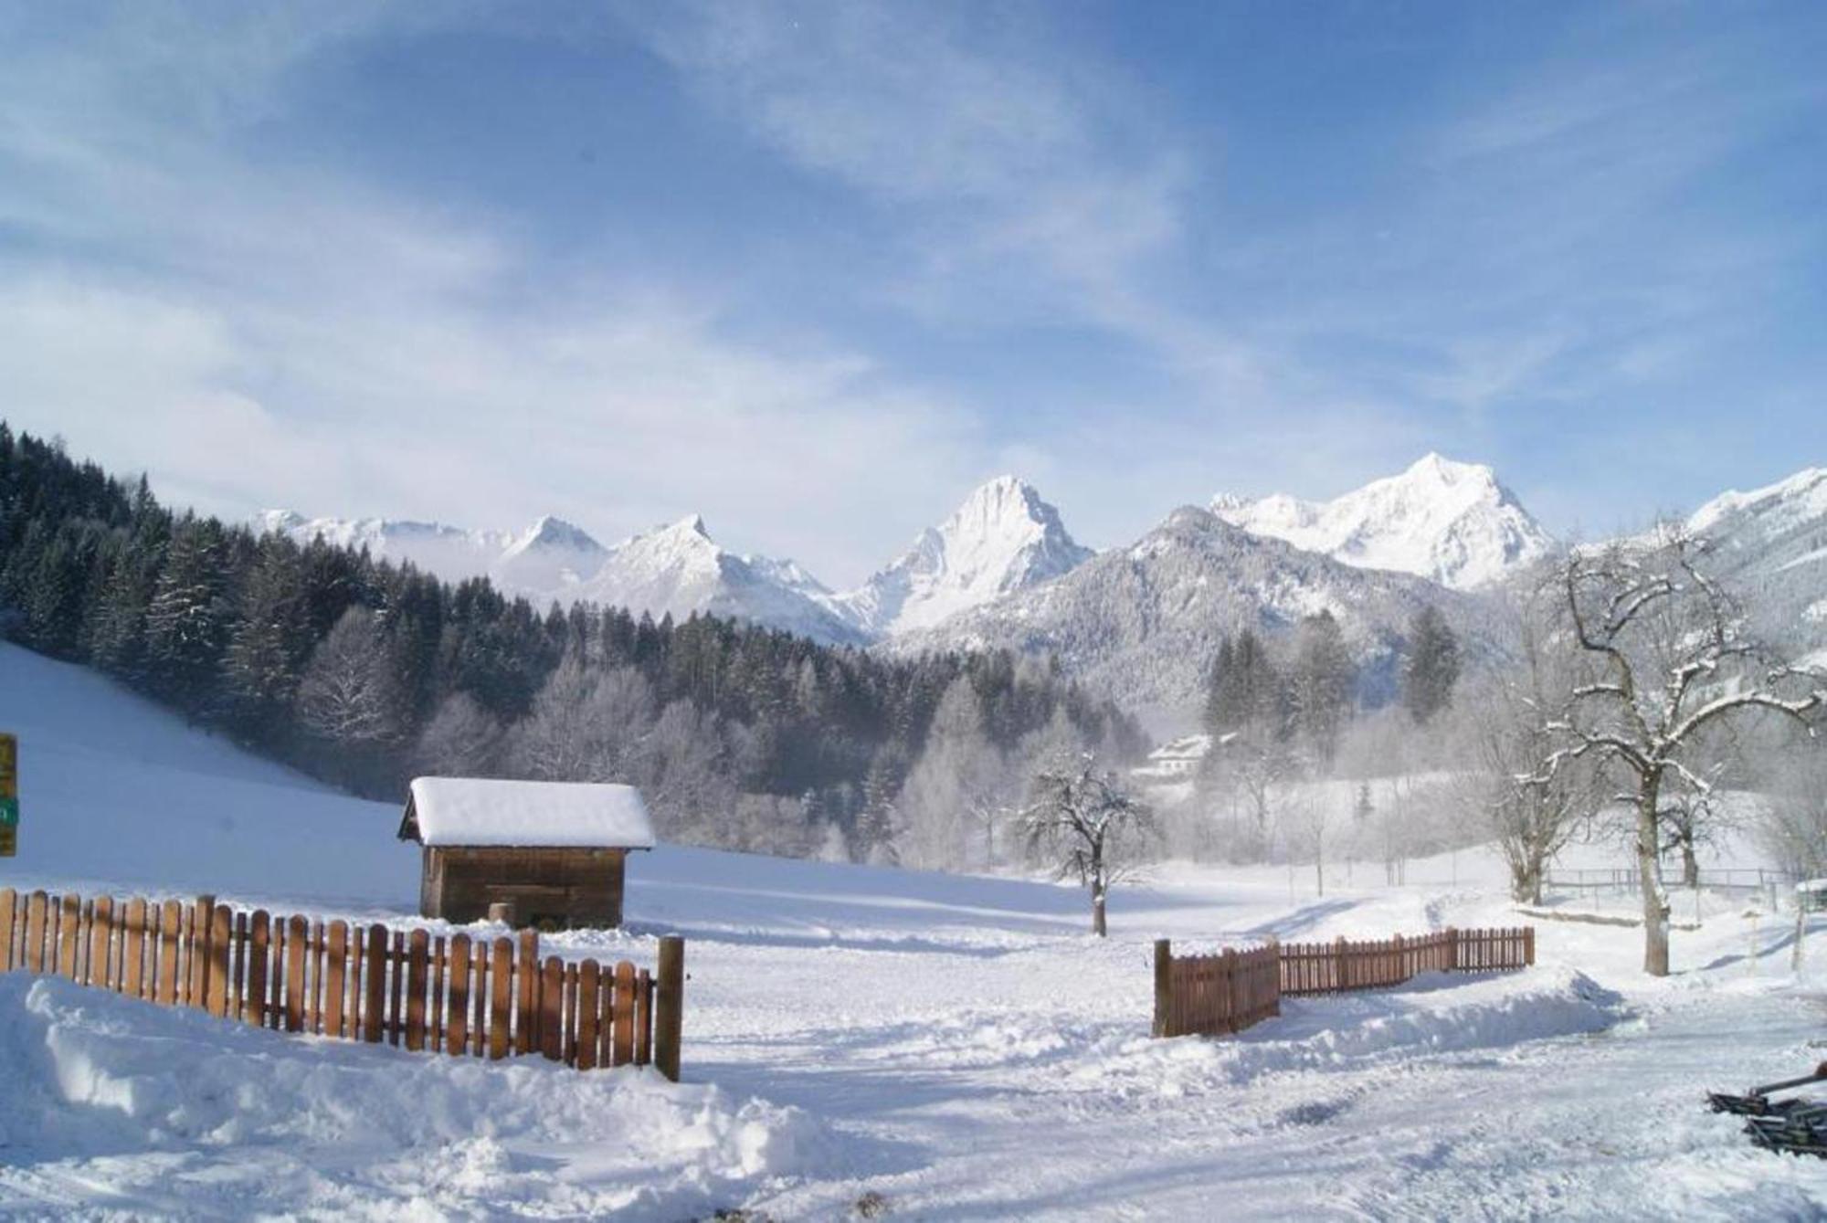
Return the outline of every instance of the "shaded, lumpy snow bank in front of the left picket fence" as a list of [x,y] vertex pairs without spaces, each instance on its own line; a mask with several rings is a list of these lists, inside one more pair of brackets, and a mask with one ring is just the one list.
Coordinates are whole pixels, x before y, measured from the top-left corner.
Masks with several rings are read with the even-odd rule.
[[0,1165],[53,1183],[106,1165],[152,1212],[174,1192],[186,1212],[258,1196],[307,1214],[680,1218],[828,1150],[800,1110],[650,1071],[281,1037],[18,973],[0,977]]

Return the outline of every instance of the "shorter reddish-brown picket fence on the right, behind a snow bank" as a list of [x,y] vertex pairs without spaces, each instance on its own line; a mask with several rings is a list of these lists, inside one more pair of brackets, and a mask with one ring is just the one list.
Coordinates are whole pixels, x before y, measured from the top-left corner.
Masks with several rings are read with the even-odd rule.
[[1443,929],[1177,956],[1155,942],[1156,1037],[1230,1035],[1281,1013],[1283,997],[1399,986],[1418,973],[1487,973],[1535,964],[1535,927]]

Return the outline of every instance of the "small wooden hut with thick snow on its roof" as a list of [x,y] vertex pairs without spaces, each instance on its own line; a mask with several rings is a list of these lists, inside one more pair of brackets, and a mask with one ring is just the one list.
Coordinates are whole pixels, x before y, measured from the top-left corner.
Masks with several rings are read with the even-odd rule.
[[400,840],[424,847],[424,916],[506,904],[519,925],[621,925],[628,851],[652,849],[654,827],[630,785],[415,778]]

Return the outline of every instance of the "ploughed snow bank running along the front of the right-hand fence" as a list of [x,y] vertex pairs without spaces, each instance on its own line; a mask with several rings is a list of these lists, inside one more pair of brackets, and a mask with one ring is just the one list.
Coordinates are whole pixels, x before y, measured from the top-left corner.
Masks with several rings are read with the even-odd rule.
[[1131,1040],[1074,1077],[1111,1079],[1129,1092],[1197,1095],[1279,1071],[1361,1070],[1595,1033],[1624,1015],[1619,995],[1575,969],[1485,980],[1429,973],[1403,989],[1283,998],[1281,1008],[1279,1019],[1224,1040]]

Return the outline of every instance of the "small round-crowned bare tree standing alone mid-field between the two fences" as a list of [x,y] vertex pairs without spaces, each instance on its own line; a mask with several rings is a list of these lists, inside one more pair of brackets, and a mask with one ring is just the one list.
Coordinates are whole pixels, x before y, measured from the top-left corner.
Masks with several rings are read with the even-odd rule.
[[1085,752],[1072,767],[1034,778],[1021,827],[1034,851],[1060,854],[1061,878],[1076,874],[1091,889],[1091,933],[1102,938],[1111,885],[1135,867],[1135,841],[1155,832],[1149,809],[1122,790],[1114,772],[1100,772],[1096,758]]

